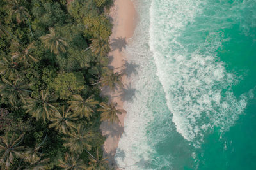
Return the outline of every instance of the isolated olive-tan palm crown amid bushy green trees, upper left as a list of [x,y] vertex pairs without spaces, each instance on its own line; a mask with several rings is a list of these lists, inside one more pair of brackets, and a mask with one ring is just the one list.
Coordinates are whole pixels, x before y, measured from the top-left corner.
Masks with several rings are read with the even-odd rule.
[[65,47],[68,46],[67,42],[61,38],[60,36],[56,35],[54,28],[49,28],[50,34],[46,34],[45,36],[41,36],[40,39],[45,44],[45,47],[50,49],[51,52],[59,55],[60,52],[65,53]]

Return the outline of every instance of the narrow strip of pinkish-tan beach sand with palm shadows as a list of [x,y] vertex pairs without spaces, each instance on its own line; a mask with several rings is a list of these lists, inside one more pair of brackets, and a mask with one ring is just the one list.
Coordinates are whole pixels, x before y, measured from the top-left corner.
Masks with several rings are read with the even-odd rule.
[[[136,10],[131,0],[115,0],[113,8],[111,8],[110,17],[113,19],[113,30],[109,43],[111,45],[111,52],[109,52],[109,67],[118,68],[116,71],[122,71],[125,64],[124,49],[129,43],[129,38],[132,37],[134,29],[136,27]],[[126,76],[122,76],[122,82],[127,84]],[[122,89],[117,89],[115,92],[111,92],[108,88],[102,90],[102,95],[120,96]],[[123,101],[120,97],[114,97],[113,101],[118,104],[118,109],[123,109]],[[108,122],[102,122],[100,129],[103,136],[106,136],[106,141],[103,146],[104,157],[108,157],[108,162],[111,166],[118,169],[115,163],[115,153],[118,147],[118,141],[124,132],[124,117],[125,111],[122,111],[121,115],[118,115],[120,124],[108,124]]]

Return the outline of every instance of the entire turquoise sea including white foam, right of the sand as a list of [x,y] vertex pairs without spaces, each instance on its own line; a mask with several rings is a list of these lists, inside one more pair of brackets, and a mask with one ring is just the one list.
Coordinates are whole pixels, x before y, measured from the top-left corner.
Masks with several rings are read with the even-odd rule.
[[256,169],[256,1],[135,1],[124,169]]

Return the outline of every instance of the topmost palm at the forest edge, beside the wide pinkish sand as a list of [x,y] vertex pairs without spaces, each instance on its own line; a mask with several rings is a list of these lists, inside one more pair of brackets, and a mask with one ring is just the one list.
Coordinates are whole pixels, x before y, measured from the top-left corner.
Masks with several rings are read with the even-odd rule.
[[95,53],[95,55],[100,54],[101,56],[104,56],[110,51],[108,39],[98,37],[92,38],[90,40],[92,41],[92,45],[90,48],[92,49],[92,52]]

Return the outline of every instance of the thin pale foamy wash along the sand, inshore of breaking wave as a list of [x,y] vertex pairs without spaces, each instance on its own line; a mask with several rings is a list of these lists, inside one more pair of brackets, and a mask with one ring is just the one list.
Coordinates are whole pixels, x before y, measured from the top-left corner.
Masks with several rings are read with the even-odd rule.
[[133,102],[124,102],[124,109],[127,111],[124,120],[124,134],[118,143],[115,155],[118,167],[132,170],[147,169],[147,164],[155,152],[150,145],[152,143],[148,143],[147,139],[147,125],[154,120],[154,114],[147,104],[150,103],[150,99],[154,95],[151,92],[156,89],[156,81],[151,66],[154,61],[147,50],[148,39],[142,38],[145,36],[144,34],[147,34],[145,27],[148,27],[148,17],[146,16],[149,6],[147,3],[145,4],[134,5],[143,13],[138,13],[138,25],[131,44],[126,48],[126,56],[129,62],[132,61],[140,67],[137,68],[138,74],[132,75],[130,78],[131,87],[136,89],[136,97]]

